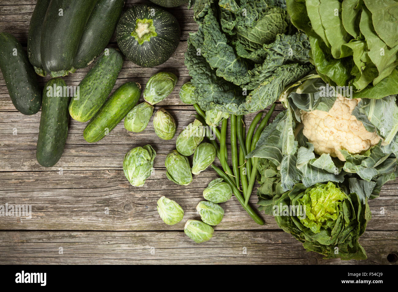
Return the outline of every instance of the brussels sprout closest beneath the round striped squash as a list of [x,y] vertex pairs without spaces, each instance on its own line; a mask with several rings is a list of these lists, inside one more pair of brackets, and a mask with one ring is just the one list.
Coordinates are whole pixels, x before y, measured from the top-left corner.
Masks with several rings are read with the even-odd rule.
[[177,76],[170,72],[159,72],[149,78],[144,89],[144,99],[149,104],[164,100],[174,89]]

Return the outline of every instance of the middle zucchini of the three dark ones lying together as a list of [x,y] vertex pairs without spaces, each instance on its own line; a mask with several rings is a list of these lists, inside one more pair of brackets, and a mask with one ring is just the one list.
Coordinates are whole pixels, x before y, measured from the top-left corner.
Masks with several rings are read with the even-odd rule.
[[97,0],[52,0],[41,29],[41,65],[52,77],[73,73],[84,27]]

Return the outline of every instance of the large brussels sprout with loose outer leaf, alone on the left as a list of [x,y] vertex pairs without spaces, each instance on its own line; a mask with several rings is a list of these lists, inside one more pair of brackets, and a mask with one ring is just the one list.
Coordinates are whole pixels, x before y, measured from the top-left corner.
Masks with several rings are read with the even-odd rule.
[[156,152],[151,145],[131,149],[123,160],[123,172],[130,184],[141,187],[153,170]]

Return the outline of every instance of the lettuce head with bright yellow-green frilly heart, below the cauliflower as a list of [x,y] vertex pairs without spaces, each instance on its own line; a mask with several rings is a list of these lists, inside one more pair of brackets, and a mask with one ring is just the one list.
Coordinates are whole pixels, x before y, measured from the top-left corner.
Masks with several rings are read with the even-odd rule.
[[362,203],[356,193],[347,195],[332,182],[310,188],[296,184],[291,191],[275,195],[272,203],[266,201],[259,204],[307,251],[320,253],[324,259],[367,258],[358,239],[371,212],[367,200]]

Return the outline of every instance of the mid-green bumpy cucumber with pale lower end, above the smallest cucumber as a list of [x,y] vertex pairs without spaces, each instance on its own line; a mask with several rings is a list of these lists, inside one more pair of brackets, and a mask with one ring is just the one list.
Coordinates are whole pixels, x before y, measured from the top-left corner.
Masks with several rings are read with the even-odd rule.
[[106,101],[115,85],[123,65],[119,50],[109,48],[109,54],[102,54],[94,67],[79,84],[79,99],[72,99],[69,113],[79,122],[90,120]]

